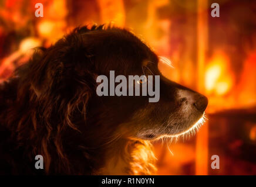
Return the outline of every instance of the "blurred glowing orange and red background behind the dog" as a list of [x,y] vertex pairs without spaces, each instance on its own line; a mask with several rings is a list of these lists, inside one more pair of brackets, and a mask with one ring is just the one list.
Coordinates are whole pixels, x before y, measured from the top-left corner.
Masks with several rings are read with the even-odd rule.
[[[35,4],[43,4],[36,18]],[[220,17],[211,17],[211,4]],[[196,136],[154,142],[158,175],[256,175],[256,2],[239,0],[0,0],[0,82],[73,28],[114,22],[170,59],[160,70],[209,99]],[[220,169],[211,168],[211,156]]]

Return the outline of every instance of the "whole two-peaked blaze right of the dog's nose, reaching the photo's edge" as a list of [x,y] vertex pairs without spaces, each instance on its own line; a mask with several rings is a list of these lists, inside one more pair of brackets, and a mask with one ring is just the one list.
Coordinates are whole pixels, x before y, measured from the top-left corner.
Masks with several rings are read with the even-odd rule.
[[234,72],[227,54],[217,52],[208,62],[205,72],[206,95],[209,98],[208,112],[231,108],[255,106],[256,51],[248,53],[241,67],[241,76],[235,82]]

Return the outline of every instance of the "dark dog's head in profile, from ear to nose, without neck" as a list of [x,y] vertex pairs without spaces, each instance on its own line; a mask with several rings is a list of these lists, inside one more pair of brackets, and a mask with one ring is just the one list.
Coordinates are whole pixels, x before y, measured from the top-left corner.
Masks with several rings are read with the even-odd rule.
[[[31,89],[42,103],[46,96],[52,98],[52,102],[43,103],[45,108],[56,103],[56,115],[63,116],[73,128],[84,124],[90,126],[87,129],[111,131],[114,136],[153,140],[185,134],[203,119],[207,98],[161,75],[159,57],[127,30],[81,27],[47,50],[42,63],[31,65],[35,76]],[[97,77],[105,75],[111,81],[110,71],[127,79],[129,75],[146,75],[133,81],[134,88],[148,84],[149,75],[153,75],[151,84],[159,86],[159,101],[149,102],[151,96],[142,94],[99,96]],[[155,75],[159,75],[159,82]],[[113,84],[114,88],[118,85]],[[108,92],[110,89],[109,85]],[[80,120],[85,113],[86,120]]]

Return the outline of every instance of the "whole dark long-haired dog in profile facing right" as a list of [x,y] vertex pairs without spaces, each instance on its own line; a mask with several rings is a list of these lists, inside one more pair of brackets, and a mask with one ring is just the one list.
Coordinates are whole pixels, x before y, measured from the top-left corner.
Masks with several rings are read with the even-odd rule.
[[[36,50],[0,87],[0,174],[154,174],[149,140],[196,129],[208,103],[164,78],[158,63],[134,34],[103,25]],[[160,75],[159,102],[98,96],[97,76],[112,70]],[[36,155],[43,169],[35,168]]]

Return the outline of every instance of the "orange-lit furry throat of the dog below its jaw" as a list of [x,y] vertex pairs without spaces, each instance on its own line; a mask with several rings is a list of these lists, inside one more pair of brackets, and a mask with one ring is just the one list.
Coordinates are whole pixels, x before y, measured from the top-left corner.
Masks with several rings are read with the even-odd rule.
[[121,139],[106,151],[99,175],[152,175],[156,158],[149,141]]

